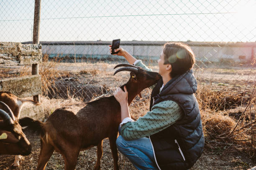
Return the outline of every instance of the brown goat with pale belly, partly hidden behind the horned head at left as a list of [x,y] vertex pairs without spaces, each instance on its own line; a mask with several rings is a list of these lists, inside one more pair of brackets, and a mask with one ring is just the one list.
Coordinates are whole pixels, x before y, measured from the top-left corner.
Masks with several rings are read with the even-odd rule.
[[[36,101],[21,99],[10,92],[0,92],[0,101],[4,102],[10,107],[16,119],[20,118],[20,110],[22,109],[25,102],[31,102],[34,105],[40,105],[40,103]],[[3,106],[0,105],[0,109],[3,109]],[[13,166],[18,167],[20,165],[19,160],[21,160],[21,156],[15,155]]]

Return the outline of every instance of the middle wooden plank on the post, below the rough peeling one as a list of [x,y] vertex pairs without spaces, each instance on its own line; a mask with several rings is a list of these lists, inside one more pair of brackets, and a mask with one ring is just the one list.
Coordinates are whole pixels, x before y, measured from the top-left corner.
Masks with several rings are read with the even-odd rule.
[[21,98],[40,95],[42,93],[41,75],[0,80],[0,91],[11,92]]

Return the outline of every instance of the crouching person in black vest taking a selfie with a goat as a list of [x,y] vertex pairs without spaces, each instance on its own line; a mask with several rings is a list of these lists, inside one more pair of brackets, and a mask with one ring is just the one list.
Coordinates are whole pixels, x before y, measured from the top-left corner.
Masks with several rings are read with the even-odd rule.
[[[115,51],[130,64],[150,70],[123,48]],[[189,169],[204,147],[201,116],[194,95],[195,55],[188,45],[166,43],[157,62],[162,79],[151,92],[150,111],[146,115],[132,120],[126,88],[125,92],[120,87],[114,92],[121,106],[122,120],[116,144],[138,170]]]

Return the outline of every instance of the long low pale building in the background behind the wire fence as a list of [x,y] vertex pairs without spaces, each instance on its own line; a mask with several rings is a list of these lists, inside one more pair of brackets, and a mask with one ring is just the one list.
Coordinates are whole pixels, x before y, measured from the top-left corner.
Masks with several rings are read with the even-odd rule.
[[[31,43],[31,42],[23,42]],[[110,55],[108,45],[111,41],[41,41],[42,53],[49,57],[68,57],[70,59],[93,58],[98,60],[122,59]],[[121,41],[120,46],[131,55],[142,60],[156,61],[161,53],[163,41]],[[246,62],[255,59],[256,42],[184,42],[202,62]]]

